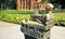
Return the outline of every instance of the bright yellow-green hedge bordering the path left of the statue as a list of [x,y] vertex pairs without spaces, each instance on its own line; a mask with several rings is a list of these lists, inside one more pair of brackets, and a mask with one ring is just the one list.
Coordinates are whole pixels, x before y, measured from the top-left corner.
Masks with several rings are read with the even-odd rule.
[[24,15],[24,14],[1,14],[0,13],[0,21],[5,21],[10,23],[16,23],[20,24],[22,20],[28,21],[29,15]]

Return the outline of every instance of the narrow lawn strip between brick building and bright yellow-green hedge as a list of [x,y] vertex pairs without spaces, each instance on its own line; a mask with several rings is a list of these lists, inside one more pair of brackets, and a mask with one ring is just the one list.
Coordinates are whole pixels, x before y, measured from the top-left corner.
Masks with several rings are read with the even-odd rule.
[[10,14],[32,14],[34,10],[3,10],[0,13],[10,13]]

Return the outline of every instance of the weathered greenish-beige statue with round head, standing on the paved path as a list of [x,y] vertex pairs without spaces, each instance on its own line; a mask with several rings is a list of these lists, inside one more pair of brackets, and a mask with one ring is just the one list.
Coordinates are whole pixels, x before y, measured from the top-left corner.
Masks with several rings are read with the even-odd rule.
[[31,21],[22,22],[22,31],[25,35],[37,39],[50,39],[50,29],[53,26],[54,16],[52,14],[53,4],[47,3],[46,16],[41,14],[32,14]]

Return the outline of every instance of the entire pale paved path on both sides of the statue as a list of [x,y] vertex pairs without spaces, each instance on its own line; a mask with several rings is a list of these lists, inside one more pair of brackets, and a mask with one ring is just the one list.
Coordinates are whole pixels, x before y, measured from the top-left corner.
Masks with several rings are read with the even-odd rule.
[[[24,39],[24,34],[20,25],[0,22],[0,39]],[[51,39],[65,39],[65,27],[54,26]]]

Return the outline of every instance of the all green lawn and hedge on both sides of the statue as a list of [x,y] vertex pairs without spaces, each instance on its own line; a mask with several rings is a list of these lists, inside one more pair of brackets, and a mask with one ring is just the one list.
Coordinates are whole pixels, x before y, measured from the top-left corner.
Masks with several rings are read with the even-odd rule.
[[[17,11],[17,10],[9,10],[0,12],[0,21],[21,24],[22,20],[28,21],[30,18],[30,14],[35,13],[34,10],[26,11]],[[41,13],[42,14],[42,13]],[[65,25],[65,12],[53,13],[54,14],[54,24],[55,25]]]

